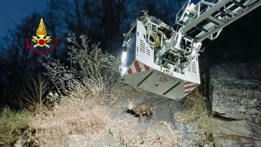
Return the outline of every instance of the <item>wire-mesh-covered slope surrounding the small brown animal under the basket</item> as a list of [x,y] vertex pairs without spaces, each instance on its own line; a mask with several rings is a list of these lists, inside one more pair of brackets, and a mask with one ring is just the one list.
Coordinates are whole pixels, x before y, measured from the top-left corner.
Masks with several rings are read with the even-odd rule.
[[[153,115],[147,120],[127,110],[130,99],[134,104],[150,101],[154,103]],[[107,115],[113,123],[92,137],[74,134],[61,146],[199,146],[197,125],[184,122],[180,114],[185,109],[184,99],[173,100],[150,92],[140,91],[121,98],[106,101]],[[197,138],[197,139],[195,139]]]

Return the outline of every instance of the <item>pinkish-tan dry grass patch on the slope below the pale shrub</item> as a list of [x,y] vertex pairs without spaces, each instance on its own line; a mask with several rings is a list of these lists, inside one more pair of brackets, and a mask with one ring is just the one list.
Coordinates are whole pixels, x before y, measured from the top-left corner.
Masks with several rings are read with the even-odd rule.
[[58,146],[73,134],[98,134],[111,121],[103,107],[86,107],[84,102],[65,102],[29,120],[29,137],[39,146]]

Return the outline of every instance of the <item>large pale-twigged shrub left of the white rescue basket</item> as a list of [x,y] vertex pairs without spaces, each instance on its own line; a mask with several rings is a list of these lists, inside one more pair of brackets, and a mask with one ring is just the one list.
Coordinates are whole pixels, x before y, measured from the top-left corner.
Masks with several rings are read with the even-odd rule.
[[110,93],[119,81],[119,59],[109,53],[102,53],[98,44],[90,47],[84,35],[80,36],[80,40],[81,44],[75,37],[68,38],[72,44],[69,46],[68,65],[47,56],[47,63],[43,63],[48,70],[46,74],[63,98],[68,95],[86,98],[90,94],[97,98]]

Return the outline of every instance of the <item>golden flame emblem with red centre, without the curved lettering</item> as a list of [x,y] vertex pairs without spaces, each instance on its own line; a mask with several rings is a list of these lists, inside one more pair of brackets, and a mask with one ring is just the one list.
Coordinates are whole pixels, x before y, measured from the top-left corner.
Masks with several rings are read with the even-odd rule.
[[46,43],[49,43],[52,39],[50,38],[50,36],[47,36],[46,38],[44,38],[47,35],[47,31],[46,31],[46,26],[44,24],[44,20],[40,20],[40,24],[39,24],[39,28],[36,31],[36,35],[39,37],[37,38],[37,36],[33,36],[33,41],[35,43],[37,43],[36,45],[34,45],[34,48],[37,46],[40,47],[50,47],[49,45],[47,45]]

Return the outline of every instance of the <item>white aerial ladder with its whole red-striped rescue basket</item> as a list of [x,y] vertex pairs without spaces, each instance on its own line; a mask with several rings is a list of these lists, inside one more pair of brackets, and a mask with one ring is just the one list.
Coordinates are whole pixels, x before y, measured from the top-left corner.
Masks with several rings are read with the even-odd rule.
[[[259,0],[187,1],[176,14],[171,36],[150,17],[137,19],[125,34],[120,79],[146,91],[181,99],[200,85],[202,41],[261,5]],[[156,46],[157,44],[157,46]]]

